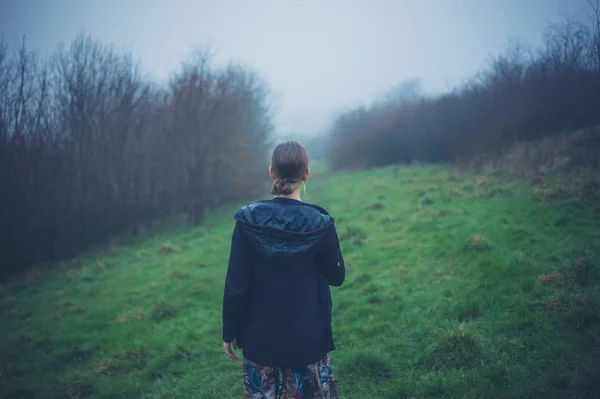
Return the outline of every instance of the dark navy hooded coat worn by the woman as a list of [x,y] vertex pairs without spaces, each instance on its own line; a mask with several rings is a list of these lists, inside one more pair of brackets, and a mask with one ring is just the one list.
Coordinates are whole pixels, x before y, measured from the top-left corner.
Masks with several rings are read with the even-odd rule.
[[255,363],[300,367],[335,349],[331,292],[345,266],[323,208],[276,197],[235,214],[223,297],[223,341]]

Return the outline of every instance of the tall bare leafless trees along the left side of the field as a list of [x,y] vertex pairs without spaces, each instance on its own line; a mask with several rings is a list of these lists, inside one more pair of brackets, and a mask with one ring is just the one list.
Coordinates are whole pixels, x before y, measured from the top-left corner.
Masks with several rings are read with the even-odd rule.
[[0,42],[0,276],[253,195],[271,122],[257,74],[208,52],[159,85],[89,35]]

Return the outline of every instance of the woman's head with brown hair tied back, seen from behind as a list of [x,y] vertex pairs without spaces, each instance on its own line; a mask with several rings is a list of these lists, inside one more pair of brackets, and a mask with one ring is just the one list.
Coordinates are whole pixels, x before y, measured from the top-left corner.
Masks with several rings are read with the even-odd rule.
[[289,195],[308,178],[308,153],[295,141],[279,144],[271,154],[271,194]]

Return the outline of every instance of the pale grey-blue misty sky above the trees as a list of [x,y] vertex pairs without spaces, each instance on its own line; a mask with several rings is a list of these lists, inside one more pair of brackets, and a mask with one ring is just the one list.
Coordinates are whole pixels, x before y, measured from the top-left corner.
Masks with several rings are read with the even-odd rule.
[[194,47],[258,70],[277,95],[278,132],[313,133],[343,107],[421,78],[446,90],[509,40],[536,45],[586,0],[0,0],[9,43],[42,54],[85,30],[130,51],[156,80]]

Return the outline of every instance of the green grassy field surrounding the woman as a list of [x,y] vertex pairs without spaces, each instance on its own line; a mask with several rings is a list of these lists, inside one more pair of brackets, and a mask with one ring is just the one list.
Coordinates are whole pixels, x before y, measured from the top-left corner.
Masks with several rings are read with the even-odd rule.
[[[336,218],[348,266],[342,397],[599,397],[600,186],[573,181],[315,176],[305,200]],[[235,210],[0,286],[0,397],[241,397],[221,348]]]

